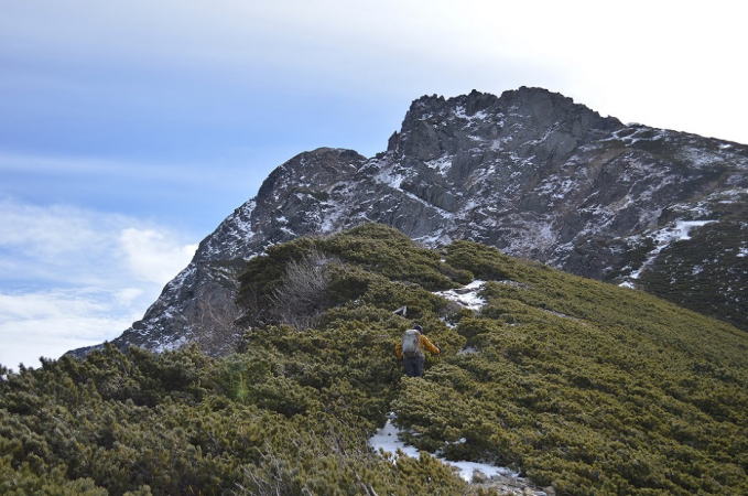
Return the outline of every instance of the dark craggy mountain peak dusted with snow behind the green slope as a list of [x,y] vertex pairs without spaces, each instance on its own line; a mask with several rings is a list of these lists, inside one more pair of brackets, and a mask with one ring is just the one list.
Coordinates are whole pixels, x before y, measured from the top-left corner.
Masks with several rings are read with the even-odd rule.
[[748,147],[624,125],[541,88],[413,101],[387,151],[275,169],[115,343],[232,348],[245,260],[365,222],[468,238],[748,328]]

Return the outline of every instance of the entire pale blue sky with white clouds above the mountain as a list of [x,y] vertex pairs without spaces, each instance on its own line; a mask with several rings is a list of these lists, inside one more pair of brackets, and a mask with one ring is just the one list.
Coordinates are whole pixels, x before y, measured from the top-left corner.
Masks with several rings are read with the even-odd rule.
[[0,364],[111,339],[267,174],[421,95],[562,93],[748,143],[748,8],[0,0]]

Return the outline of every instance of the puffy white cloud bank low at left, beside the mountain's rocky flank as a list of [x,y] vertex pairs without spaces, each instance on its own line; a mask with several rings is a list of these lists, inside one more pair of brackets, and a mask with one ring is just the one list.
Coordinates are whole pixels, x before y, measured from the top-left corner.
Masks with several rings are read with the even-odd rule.
[[0,363],[33,366],[118,336],[195,249],[133,217],[0,202]]

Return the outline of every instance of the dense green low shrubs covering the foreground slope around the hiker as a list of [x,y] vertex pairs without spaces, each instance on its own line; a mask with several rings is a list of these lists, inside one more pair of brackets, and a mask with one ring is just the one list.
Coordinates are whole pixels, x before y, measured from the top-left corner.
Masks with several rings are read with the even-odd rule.
[[[314,319],[269,310],[305,294],[305,265]],[[492,281],[479,314],[432,293],[474,278]],[[748,493],[748,336],[728,324],[380,225],[270,248],[239,301],[224,358],[107,347],[0,371],[0,493],[481,494],[430,456],[370,452],[390,410],[424,451],[559,494]],[[392,348],[414,320],[443,354],[403,378]]]

